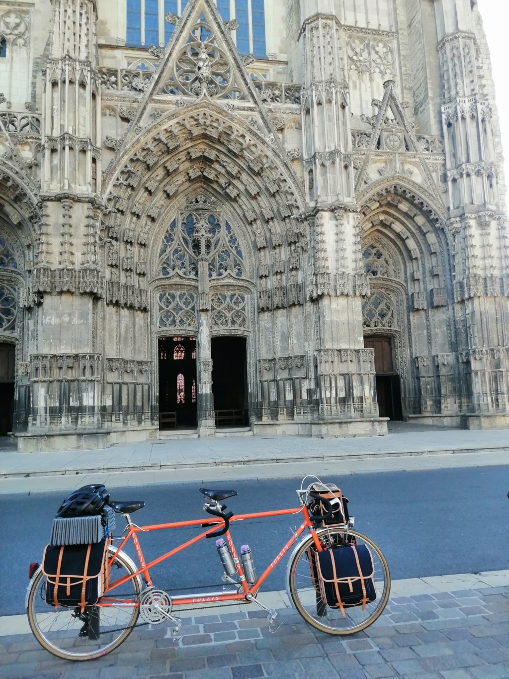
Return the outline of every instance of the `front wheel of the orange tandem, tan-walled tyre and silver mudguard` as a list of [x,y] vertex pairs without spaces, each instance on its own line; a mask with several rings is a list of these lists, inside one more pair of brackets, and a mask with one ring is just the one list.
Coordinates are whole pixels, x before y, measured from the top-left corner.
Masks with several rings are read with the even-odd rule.
[[[316,545],[311,535],[298,547],[290,565],[288,591],[295,607],[309,625],[328,634],[346,635],[361,631],[374,623],[388,602],[390,591],[390,574],[385,557],[373,540],[366,538],[356,530],[346,528],[323,528],[316,531],[322,547],[334,547],[350,542],[352,538],[357,545],[366,545],[371,551],[375,567],[374,580],[377,598],[362,606],[344,608],[345,615],[339,608],[330,608],[322,602],[320,592],[316,587],[316,572],[312,570],[312,563],[316,552]],[[354,543],[355,544],[355,543]]]

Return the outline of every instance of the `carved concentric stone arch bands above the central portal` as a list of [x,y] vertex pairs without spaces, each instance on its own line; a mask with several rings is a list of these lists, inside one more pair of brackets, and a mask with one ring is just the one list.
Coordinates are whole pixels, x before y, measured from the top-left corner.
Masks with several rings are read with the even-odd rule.
[[200,103],[153,124],[105,185],[103,221],[120,240],[147,242],[169,205],[200,187],[229,202],[258,247],[299,240],[301,227],[290,218],[301,213],[303,196],[293,170],[219,106]]

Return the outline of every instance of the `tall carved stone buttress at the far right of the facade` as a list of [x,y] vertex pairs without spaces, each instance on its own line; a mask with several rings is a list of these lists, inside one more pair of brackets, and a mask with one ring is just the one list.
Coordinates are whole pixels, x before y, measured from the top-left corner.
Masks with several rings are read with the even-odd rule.
[[[470,0],[435,3],[461,412],[509,424],[509,259],[499,122],[485,35]],[[442,382],[443,360],[437,363]],[[443,397],[442,397],[443,403]]]

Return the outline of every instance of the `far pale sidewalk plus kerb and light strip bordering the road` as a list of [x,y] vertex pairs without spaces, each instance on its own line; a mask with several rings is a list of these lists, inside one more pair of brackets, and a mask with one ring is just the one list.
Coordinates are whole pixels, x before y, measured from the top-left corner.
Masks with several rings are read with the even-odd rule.
[[392,433],[384,437],[175,439],[44,453],[7,447],[0,449],[0,494],[69,490],[97,481],[115,488],[509,464],[509,430],[390,424]]

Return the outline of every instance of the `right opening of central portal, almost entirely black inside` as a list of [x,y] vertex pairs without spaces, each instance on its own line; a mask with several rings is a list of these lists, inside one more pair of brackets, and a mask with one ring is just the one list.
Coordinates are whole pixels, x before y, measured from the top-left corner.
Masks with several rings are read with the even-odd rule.
[[216,426],[247,426],[246,338],[212,337],[210,350]]

